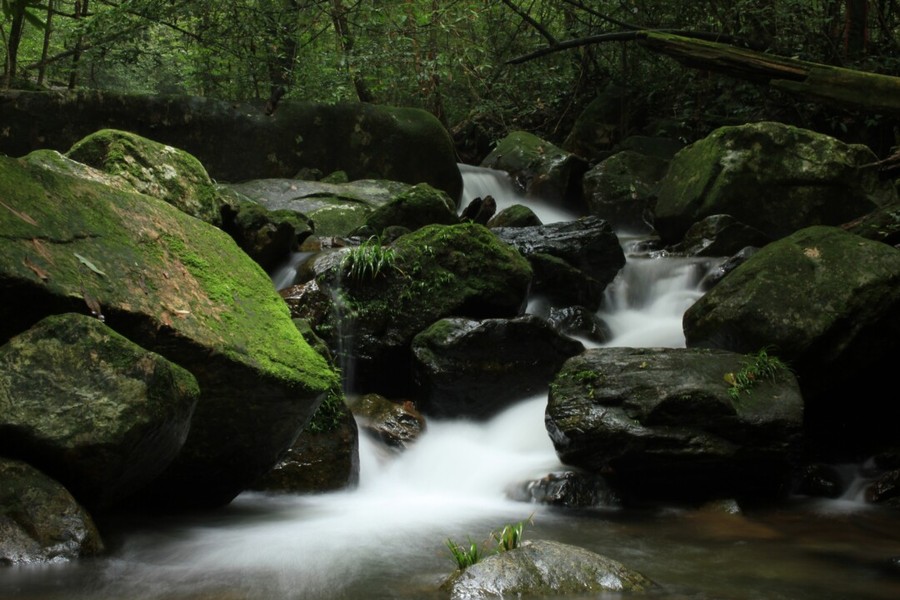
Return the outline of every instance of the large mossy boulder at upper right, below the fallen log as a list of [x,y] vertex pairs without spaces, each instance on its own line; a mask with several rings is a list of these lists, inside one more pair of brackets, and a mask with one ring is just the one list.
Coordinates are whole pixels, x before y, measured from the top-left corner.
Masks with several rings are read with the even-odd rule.
[[722,127],[681,150],[660,182],[654,226],[676,244],[696,221],[728,214],[772,239],[840,225],[896,199],[865,146],[782,125]]

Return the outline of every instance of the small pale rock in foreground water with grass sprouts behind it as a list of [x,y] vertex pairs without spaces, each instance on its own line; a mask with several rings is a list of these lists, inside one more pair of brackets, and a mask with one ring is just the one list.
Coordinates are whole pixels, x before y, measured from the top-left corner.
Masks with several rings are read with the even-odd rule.
[[442,585],[452,600],[633,594],[654,588],[650,579],[616,560],[546,540],[492,554]]

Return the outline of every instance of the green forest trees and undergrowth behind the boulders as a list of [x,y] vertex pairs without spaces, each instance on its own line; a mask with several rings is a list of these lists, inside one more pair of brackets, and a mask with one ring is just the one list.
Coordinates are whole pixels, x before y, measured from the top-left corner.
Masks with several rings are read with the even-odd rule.
[[607,94],[619,139],[772,119],[886,155],[897,115],[686,68],[633,34],[900,75],[898,1],[0,0],[2,86],[418,107],[481,148],[513,130],[561,142]]

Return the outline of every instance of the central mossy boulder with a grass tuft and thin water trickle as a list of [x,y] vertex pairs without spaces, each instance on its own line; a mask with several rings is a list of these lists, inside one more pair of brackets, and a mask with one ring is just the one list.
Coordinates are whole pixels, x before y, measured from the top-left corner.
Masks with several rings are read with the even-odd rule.
[[[521,254],[474,223],[429,225],[390,246],[343,252],[317,276],[320,294],[335,302],[313,327],[339,364],[352,365],[350,389],[364,393],[406,395],[410,343],[419,331],[450,315],[516,316],[532,277]],[[294,311],[302,317],[300,303]]]

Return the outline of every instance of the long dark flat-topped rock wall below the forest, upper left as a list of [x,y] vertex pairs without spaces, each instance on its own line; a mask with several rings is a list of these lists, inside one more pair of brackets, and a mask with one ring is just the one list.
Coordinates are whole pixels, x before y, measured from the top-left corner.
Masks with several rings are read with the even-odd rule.
[[[428,183],[462,192],[453,140],[424,110],[363,103],[284,101],[262,107],[198,97],[104,91],[0,95],[0,152],[66,151],[100,129],[120,129],[183,149],[220,181],[293,177],[303,169],[350,179]],[[324,126],[323,124],[327,124]]]

